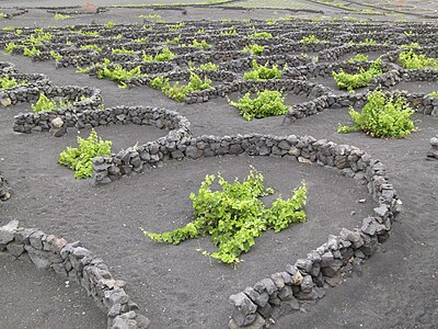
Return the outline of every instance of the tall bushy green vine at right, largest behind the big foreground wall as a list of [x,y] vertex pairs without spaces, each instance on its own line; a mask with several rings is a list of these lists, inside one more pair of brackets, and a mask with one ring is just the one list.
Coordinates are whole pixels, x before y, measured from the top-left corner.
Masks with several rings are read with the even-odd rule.
[[411,115],[414,111],[401,95],[387,95],[377,89],[368,95],[367,103],[360,113],[351,106],[349,114],[353,126],[339,126],[337,132],[346,134],[364,131],[371,137],[404,138],[415,131]]

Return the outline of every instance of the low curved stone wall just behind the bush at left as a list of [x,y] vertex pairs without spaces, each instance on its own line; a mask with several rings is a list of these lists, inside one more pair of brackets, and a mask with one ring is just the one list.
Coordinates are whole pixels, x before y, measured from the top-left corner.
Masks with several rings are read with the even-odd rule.
[[[153,125],[160,129],[175,131],[178,134],[189,134],[189,122],[177,112],[152,106],[116,106],[105,110],[88,109],[72,112],[69,109],[41,113],[22,113],[14,117],[13,131],[32,133],[57,128],[55,120],[61,120],[60,125],[78,129],[107,125]],[[58,124],[59,125],[59,124]]]

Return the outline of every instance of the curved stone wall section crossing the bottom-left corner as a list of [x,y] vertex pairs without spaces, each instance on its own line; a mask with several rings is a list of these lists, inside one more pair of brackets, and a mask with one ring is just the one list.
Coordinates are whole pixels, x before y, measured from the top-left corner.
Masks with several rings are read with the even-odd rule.
[[54,271],[79,284],[106,313],[108,329],[149,326],[149,319],[138,313],[138,305],[126,293],[126,283],[116,280],[103,260],[80,241],[69,243],[37,228],[19,227],[19,222],[12,220],[0,227],[0,252],[28,259],[37,269]]

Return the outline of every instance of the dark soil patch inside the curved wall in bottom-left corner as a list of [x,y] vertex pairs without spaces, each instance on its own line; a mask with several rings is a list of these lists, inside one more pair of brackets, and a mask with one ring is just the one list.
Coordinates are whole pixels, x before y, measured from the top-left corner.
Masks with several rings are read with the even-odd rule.
[[105,328],[105,314],[78,285],[30,260],[0,253],[0,277],[1,329]]

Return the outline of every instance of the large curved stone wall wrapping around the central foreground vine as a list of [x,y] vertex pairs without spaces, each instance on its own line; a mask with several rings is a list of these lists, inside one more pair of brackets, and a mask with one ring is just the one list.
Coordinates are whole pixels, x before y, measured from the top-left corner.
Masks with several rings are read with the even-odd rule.
[[[388,239],[401,202],[379,160],[356,147],[295,135],[204,135],[176,141],[161,139],[131,148],[118,157],[93,159],[93,180],[95,184],[108,183],[130,171],[141,171],[145,163],[158,166],[171,159],[241,154],[292,157],[301,162],[336,168],[357,182],[366,183],[378,202],[374,214],[365,218],[360,228],[343,228],[338,236],[330,236],[328,241],[311,251],[308,258],[230,296],[233,305],[230,328],[264,328],[273,322],[273,318],[299,309],[302,302],[322,298],[324,287],[343,281],[343,271],[351,270],[354,264],[372,256],[378,243]],[[129,168],[129,172],[123,171],[122,166]]]

